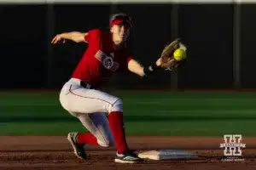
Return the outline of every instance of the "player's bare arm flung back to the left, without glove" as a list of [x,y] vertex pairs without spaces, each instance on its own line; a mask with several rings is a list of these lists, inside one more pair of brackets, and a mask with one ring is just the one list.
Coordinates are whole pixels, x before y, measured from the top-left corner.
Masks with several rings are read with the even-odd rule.
[[61,34],[56,35],[51,43],[55,44],[57,42],[66,42],[66,40],[71,40],[73,42],[86,42],[84,37],[87,35],[87,32],[79,32],[79,31],[71,31],[71,32],[64,32]]

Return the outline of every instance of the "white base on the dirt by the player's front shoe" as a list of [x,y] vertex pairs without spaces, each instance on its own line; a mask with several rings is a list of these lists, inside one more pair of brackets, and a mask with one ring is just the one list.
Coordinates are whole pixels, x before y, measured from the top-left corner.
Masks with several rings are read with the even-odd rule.
[[143,159],[151,160],[175,160],[175,159],[191,159],[196,158],[196,154],[192,154],[183,150],[149,150],[138,153]]

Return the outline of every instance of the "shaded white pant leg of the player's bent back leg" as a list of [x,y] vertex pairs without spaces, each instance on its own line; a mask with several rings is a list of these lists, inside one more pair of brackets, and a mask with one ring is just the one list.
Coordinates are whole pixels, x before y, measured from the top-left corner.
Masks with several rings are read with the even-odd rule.
[[108,126],[108,118],[104,113],[76,113],[76,116],[84,127],[96,136],[98,144],[102,146],[113,145],[113,135]]

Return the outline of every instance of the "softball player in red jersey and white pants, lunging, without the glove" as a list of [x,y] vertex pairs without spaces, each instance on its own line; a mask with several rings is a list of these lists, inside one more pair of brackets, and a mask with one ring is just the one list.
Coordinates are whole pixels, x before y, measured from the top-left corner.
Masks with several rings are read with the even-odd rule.
[[[125,47],[131,27],[131,17],[126,14],[114,14],[109,30],[72,31],[56,35],[52,40],[53,44],[65,40],[89,43],[79,65],[60,93],[62,107],[72,116],[79,118],[90,131],[67,135],[74,153],[80,158],[86,159],[84,144],[103,147],[115,144],[115,162],[142,161],[126,143],[122,99],[101,90],[105,82],[117,71],[131,71],[144,77],[160,68],[160,59],[148,67],[143,67],[133,59],[131,52]],[[108,113],[108,116],[105,113]]]

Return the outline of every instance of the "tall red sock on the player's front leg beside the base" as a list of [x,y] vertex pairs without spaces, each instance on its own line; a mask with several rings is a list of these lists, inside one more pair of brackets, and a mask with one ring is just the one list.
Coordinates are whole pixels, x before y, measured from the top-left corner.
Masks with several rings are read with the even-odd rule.
[[109,127],[113,133],[113,139],[119,154],[124,154],[128,150],[125,139],[125,127],[123,113],[120,111],[110,112],[108,115]]

